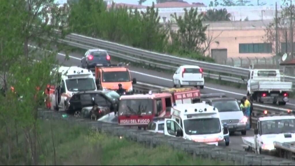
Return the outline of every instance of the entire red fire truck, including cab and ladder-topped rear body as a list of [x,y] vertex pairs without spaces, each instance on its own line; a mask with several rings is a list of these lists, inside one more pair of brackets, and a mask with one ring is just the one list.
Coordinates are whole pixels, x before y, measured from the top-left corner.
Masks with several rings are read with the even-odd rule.
[[123,95],[120,97],[118,123],[124,126],[146,128],[154,117],[171,115],[174,105],[200,101],[196,88],[163,89],[158,93]]

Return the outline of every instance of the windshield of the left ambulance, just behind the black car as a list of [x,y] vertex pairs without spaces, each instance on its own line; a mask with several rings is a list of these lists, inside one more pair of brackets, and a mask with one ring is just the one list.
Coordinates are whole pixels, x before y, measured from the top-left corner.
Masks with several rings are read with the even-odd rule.
[[77,78],[65,80],[70,92],[95,90],[95,82],[92,78]]

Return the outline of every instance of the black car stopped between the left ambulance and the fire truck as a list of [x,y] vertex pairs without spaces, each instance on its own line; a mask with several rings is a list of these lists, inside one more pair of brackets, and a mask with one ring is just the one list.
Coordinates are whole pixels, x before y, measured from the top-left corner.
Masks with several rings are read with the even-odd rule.
[[120,95],[115,91],[86,91],[75,93],[66,102],[66,112],[73,114],[76,111],[80,112],[82,108],[92,107],[92,97],[99,107],[105,107],[110,112],[117,112]]

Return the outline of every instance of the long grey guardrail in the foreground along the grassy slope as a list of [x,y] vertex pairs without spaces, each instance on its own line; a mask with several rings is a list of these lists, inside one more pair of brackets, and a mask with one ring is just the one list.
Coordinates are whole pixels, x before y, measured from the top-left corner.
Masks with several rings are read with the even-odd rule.
[[146,148],[157,146],[169,146],[173,149],[182,150],[191,154],[193,159],[201,157],[207,160],[225,161],[230,165],[295,165],[292,160],[285,160],[278,157],[253,154],[228,147],[218,147],[201,142],[186,140],[179,137],[165,136],[164,134],[152,133],[144,130],[131,129],[118,126],[116,124],[90,121],[89,119],[68,116],[63,118],[61,113],[52,110],[39,110],[38,116],[42,119],[65,120],[73,124],[86,125],[89,129],[105,132],[113,136],[123,136],[124,138],[143,144]]

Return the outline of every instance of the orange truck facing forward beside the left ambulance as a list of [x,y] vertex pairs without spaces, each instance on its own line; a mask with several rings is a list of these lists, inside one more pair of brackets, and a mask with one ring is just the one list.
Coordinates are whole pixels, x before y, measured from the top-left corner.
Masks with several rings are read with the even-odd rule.
[[136,84],[136,78],[131,79],[129,69],[122,64],[97,64],[95,80],[97,89],[117,90],[118,84],[122,84],[126,92],[134,92],[133,84]]

